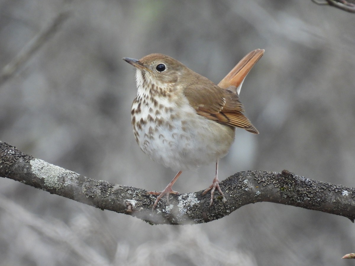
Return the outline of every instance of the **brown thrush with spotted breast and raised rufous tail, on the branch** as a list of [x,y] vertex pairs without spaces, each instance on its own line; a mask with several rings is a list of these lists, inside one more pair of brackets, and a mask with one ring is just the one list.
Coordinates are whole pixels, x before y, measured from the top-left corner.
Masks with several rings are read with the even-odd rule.
[[219,187],[218,160],[224,157],[234,141],[235,127],[258,134],[244,116],[239,92],[244,78],[263,55],[257,49],[247,54],[222,81],[215,85],[179,61],[162,54],[150,54],[140,60],[125,57],[135,66],[137,96],[132,104],[132,127],[140,148],[151,159],[180,170],[158,195],[178,194],[172,186],[182,170],[216,162],[210,206]]

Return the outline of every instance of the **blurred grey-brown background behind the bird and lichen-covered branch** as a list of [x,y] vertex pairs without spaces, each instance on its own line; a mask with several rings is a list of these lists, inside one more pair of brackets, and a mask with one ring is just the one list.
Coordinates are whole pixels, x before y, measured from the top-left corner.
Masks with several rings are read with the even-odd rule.
[[[159,52],[218,83],[265,54],[241,101],[259,135],[237,130],[219,177],[245,170],[354,186],[354,14],[309,1],[0,1],[0,69],[64,11],[69,18],[0,87],[0,139],[51,164],[162,190],[176,174],[133,137],[135,71]],[[183,172],[207,188],[214,164]],[[348,219],[272,203],[193,226],[151,226],[0,179],[0,265],[353,265]]]

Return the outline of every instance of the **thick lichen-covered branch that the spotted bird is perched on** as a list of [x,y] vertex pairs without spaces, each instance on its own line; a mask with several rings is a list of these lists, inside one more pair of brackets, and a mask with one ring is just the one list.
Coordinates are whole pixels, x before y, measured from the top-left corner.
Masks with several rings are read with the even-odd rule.
[[146,190],[84,177],[35,159],[0,140],[0,176],[64,196],[102,210],[140,218],[152,224],[183,225],[213,221],[241,206],[268,201],[341,215],[354,222],[355,189],[297,176],[287,170],[239,172],[220,182],[227,201],[200,192],[173,195],[170,204]]

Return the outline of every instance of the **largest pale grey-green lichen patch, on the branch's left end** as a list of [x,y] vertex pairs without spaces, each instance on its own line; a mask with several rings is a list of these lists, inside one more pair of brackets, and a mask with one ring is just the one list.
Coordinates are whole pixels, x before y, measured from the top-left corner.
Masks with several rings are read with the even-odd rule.
[[61,189],[66,185],[63,181],[65,177],[72,174],[78,175],[75,172],[66,170],[56,165],[48,164],[40,159],[32,159],[29,164],[32,168],[32,173],[44,180],[44,184],[49,189]]

